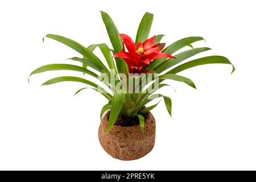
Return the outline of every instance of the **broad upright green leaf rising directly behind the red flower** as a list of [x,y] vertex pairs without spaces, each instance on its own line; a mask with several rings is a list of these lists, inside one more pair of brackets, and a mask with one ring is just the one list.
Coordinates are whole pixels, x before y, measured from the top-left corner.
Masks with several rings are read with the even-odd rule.
[[138,45],[139,42],[143,43],[145,40],[147,40],[151,24],[153,22],[154,15],[151,13],[146,12],[144,16],[142,17],[141,23],[139,23],[139,28],[137,31],[136,36],[136,44]]

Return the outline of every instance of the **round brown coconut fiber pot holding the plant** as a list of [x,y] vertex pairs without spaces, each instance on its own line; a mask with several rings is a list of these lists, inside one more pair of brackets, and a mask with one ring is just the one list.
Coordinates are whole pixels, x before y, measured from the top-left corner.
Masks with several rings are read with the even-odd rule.
[[113,158],[120,160],[134,160],[147,155],[155,144],[155,118],[148,112],[144,114],[144,135],[141,127],[134,123],[123,125],[122,118],[118,118],[113,128],[105,134],[109,121],[109,111],[102,117],[98,129],[98,139],[102,148]]

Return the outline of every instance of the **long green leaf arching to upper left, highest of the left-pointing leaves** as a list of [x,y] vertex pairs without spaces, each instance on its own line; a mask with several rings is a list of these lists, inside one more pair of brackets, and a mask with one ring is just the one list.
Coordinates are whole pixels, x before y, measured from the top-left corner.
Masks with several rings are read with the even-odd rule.
[[63,43],[63,44],[65,44],[68,47],[71,47],[75,51],[81,53],[81,55],[85,56],[87,59],[93,61],[94,63],[96,63],[98,65],[100,65],[100,67],[102,67],[103,69],[108,70],[105,67],[105,65],[101,62],[101,60],[98,59],[98,57],[96,55],[94,55],[94,53],[92,53],[89,49],[85,48],[81,44],[75,42],[74,40],[65,38],[64,36],[53,35],[53,34],[47,34],[46,37],[47,38],[51,38],[53,40],[56,40],[56,41],[58,41],[60,43]]

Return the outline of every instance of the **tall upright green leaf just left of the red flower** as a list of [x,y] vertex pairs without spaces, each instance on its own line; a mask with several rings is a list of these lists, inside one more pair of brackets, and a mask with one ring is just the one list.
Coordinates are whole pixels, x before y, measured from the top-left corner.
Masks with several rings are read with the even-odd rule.
[[[123,43],[119,36],[117,27],[115,27],[113,20],[110,18],[110,16],[107,13],[105,13],[104,11],[101,11],[101,16],[106,26],[106,30],[108,32],[110,42],[112,43],[112,46],[114,48],[114,53],[121,52],[123,48]],[[128,66],[122,58],[116,57],[115,60],[117,64],[117,71],[119,73],[125,73],[125,74],[129,73]]]

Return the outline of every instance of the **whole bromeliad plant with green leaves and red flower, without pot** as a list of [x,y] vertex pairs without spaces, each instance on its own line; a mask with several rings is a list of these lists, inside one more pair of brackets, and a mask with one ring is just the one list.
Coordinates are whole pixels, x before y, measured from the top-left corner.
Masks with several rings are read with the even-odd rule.
[[[129,36],[119,34],[117,27],[115,27],[113,20],[107,13],[101,11],[101,16],[106,26],[106,30],[108,31],[113,49],[110,49],[104,43],[92,44],[86,48],[74,40],[65,38],[64,36],[48,34],[46,35],[47,38],[57,40],[58,42],[63,43],[79,52],[82,57],[72,57],[69,60],[79,61],[82,63],[82,66],[72,64],[49,64],[35,69],[31,75],[46,71],[71,70],[82,72],[84,75],[97,78],[97,80],[101,82],[101,86],[85,78],[75,76],[55,77],[44,82],[43,85],[55,84],[62,81],[76,81],[92,86],[93,90],[102,94],[102,96],[108,100],[108,103],[102,107],[100,114],[102,117],[102,115],[104,115],[104,113],[110,109],[109,122],[106,132],[112,129],[117,121],[118,115],[129,118],[137,117],[139,119],[141,131],[144,132],[143,114],[147,113],[158,104],[148,107],[145,107],[145,105],[155,98],[163,97],[167,111],[171,115],[171,98],[163,96],[162,94],[154,94],[154,92],[159,88],[167,86],[167,84],[163,84],[162,82],[164,80],[181,81],[189,86],[192,86],[193,88],[196,88],[192,80],[180,75],[176,75],[177,73],[184,71],[185,69],[204,64],[222,63],[232,65],[232,63],[230,63],[226,57],[207,56],[188,61],[187,63],[180,64],[175,68],[171,68],[176,64],[187,60],[189,57],[195,56],[200,52],[210,50],[208,47],[192,47],[192,43],[204,39],[200,36],[192,36],[177,40],[170,46],[164,48],[165,44],[160,43],[163,35],[152,36],[152,38],[148,39],[153,15],[146,13],[139,24],[134,43]],[[191,49],[172,56],[175,54],[175,52],[186,46],[191,47]],[[107,65],[105,65],[103,61],[94,55],[93,51],[96,47],[101,49]],[[90,69],[88,69],[88,67]],[[232,67],[232,72],[234,72],[235,68],[233,65]],[[134,75],[131,75],[131,73]],[[146,89],[146,85],[142,84],[143,79],[147,80],[148,74],[152,73],[155,75],[154,79],[151,82],[151,87]],[[102,75],[107,75],[108,77],[114,76],[114,82],[109,81],[111,79],[102,79]],[[125,79],[123,79],[123,77],[134,78],[135,80],[139,79],[139,84],[129,85],[129,82],[124,81]],[[119,85],[119,89],[117,88],[117,85]],[[107,86],[108,90],[105,89],[104,86]],[[132,89],[130,89],[131,86]],[[134,93],[135,88],[139,88],[139,92]],[[83,89],[86,88],[78,90],[76,94]],[[120,90],[122,91],[120,92]]]

